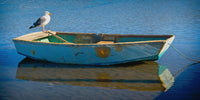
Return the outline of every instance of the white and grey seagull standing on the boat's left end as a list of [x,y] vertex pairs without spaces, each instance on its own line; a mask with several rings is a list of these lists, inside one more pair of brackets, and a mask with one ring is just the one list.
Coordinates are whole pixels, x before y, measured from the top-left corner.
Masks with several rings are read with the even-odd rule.
[[33,25],[29,27],[29,29],[35,27],[42,27],[43,32],[46,32],[44,26],[50,22],[51,20],[50,15],[51,15],[50,12],[45,11],[44,16],[40,17],[35,23],[33,23]]

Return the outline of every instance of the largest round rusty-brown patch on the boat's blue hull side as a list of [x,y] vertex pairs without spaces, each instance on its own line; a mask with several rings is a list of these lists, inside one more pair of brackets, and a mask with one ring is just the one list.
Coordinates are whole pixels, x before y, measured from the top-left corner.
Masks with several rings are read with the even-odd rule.
[[100,58],[107,58],[110,55],[111,49],[109,47],[96,47],[96,55]]

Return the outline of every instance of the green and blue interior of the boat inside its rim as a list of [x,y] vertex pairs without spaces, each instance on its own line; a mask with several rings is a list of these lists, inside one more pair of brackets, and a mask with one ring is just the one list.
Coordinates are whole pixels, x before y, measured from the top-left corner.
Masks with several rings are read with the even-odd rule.
[[[138,41],[153,41],[153,40],[167,40],[173,35],[132,35],[132,34],[95,34],[95,33],[63,33],[56,32],[56,35],[64,40],[75,44],[106,44],[119,42],[138,42]],[[34,41],[63,43],[53,35],[48,35]]]

